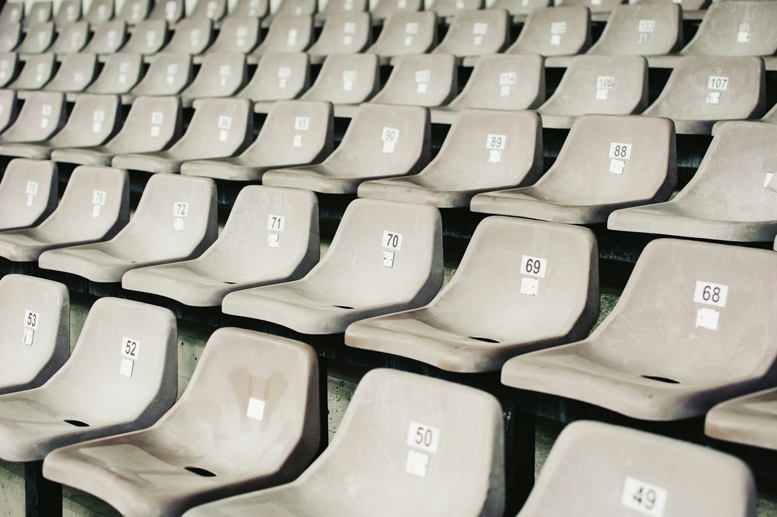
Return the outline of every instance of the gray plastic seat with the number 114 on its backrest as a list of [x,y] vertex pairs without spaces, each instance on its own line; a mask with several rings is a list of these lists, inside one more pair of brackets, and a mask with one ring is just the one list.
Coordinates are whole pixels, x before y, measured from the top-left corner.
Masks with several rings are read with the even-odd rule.
[[481,56],[462,92],[431,109],[432,122],[453,123],[464,109],[536,109],[545,102],[545,65],[540,56]]

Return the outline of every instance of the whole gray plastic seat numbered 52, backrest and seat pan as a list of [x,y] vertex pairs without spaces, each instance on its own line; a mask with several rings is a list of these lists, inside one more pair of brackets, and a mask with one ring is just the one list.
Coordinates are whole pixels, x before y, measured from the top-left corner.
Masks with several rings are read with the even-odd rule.
[[97,300],[60,370],[42,387],[0,397],[0,458],[43,460],[62,446],[154,424],[176,401],[176,345],[169,310]]

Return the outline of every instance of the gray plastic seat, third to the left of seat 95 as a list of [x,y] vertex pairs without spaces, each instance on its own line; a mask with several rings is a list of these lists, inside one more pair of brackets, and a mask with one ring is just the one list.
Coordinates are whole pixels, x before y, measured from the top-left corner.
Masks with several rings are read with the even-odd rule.
[[104,144],[121,127],[121,102],[118,95],[78,96],[61,130],[47,140],[0,143],[0,154],[22,158],[51,158],[57,147],[92,147]]

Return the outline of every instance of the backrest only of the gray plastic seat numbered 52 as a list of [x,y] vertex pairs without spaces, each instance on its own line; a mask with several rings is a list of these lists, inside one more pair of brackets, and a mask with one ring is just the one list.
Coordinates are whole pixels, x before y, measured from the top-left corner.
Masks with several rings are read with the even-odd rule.
[[87,425],[148,427],[176,401],[176,341],[168,309],[100,298],[70,360],[46,383],[47,397],[54,408],[78,408],[78,421]]

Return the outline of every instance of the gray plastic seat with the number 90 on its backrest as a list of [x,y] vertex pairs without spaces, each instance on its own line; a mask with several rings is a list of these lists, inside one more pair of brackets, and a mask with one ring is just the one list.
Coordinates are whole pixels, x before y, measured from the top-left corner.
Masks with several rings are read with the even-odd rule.
[[267,171],[262,182],[320,193],[356,193],[361,182],[423,169],[430,159],[430,134],[427,108],[365,102],[326,160]]

